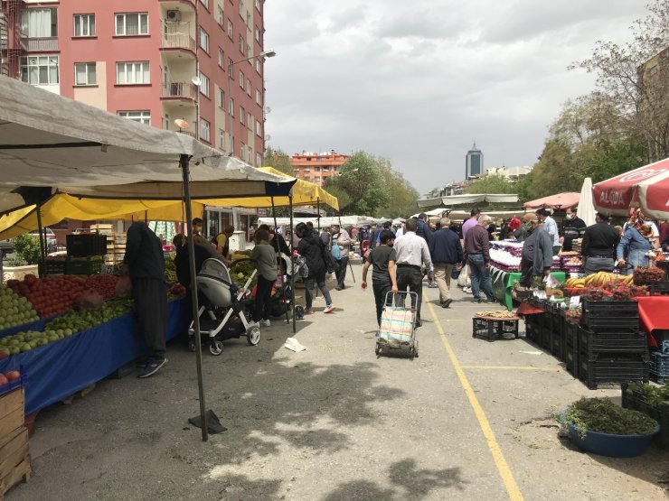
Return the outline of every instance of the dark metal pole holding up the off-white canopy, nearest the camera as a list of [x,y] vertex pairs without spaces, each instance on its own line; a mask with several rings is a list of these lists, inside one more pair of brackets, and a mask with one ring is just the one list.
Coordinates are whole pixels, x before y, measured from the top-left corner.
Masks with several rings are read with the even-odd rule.
[[202,422],[203,441],[209,439],[207,431],[206,405],[203,385],[203,351],[200,339],[200,307],[197,304],[197,285],[195,283],[195,241],[193,239],[193,214],[191,209],[191,191],[189,187],[188,155],[179,157],[179,165],[184,175],[184,201],[186,204],[186,225],[188,227],[188,264],[191,271],[191,297],[193,298],[193,330],[195,336],[195,365],[197,366],[197,389],[200,395],[200,419]]

